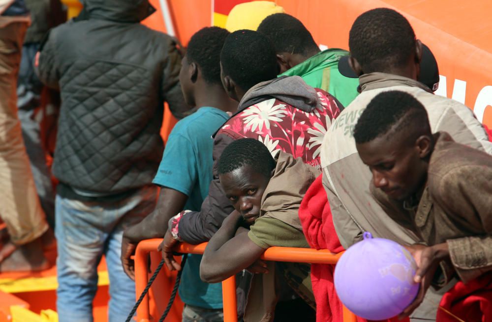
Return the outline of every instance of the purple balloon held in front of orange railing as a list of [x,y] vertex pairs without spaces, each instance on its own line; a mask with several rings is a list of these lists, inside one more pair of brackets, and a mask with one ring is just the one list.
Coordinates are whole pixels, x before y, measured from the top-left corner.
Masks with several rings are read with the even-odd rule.
[[372,238],[349,247],[335,268],[335,289],[341,302],[357,316],[385,320],[400,314],[415,299],[417,265],[400,244]]

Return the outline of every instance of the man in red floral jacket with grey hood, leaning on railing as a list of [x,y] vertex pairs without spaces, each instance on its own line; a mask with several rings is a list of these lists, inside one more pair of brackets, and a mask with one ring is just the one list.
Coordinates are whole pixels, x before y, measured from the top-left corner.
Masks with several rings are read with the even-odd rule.
[[[225,40],[220,54],[222,84],[240,102],[238,111],[215,134],[214,180],[199,212],[184,212],[170,220],[163,255],[170,269],[178,241],[208,241],[234,208],[220,186],[216,162],[234,140],[261,141],[272,154],[281,150],[320,168],[320,145],[339,108],[330,94],[308,86],[300,77],[277,78],[276,53],[268,38],[238,30]],[[293,185],[296,183],[293,182]]]

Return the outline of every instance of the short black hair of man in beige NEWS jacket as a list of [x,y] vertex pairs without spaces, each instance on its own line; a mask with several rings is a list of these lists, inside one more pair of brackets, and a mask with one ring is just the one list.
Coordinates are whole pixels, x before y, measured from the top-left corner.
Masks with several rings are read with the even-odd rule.
[[349,33],[350,55],[364,73],[384,72],[403,66],[415,51],[415,32],[395,10],[369,10],[355,20]]

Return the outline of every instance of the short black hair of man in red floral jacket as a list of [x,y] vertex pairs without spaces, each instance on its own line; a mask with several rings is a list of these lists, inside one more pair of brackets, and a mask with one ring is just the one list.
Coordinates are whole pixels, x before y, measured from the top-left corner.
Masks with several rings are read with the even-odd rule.
[[254,85],[277,78],[277,54],[272,42],[253,30],[232,32],[220,53],[222,72],[247,91]]

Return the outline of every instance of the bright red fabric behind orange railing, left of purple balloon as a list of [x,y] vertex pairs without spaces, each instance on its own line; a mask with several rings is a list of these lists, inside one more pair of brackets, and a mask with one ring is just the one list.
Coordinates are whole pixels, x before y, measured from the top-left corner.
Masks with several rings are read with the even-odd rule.
[[[320,175],[312,183],[299,208],[304,235],[311,248],[329,249],[333,253],[343,251],[333,225],[332,212]],[[334,265],[311,264],[311,281],[316,300],[317,322],[343,322],[342,303],[333,283]],[[366,322],[357,318],[358,322]],[[398,321],[396,318],[391,321]],[[408,321],[408,320],[402,320]]]

